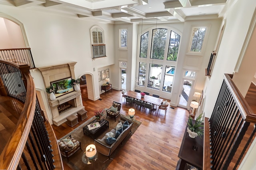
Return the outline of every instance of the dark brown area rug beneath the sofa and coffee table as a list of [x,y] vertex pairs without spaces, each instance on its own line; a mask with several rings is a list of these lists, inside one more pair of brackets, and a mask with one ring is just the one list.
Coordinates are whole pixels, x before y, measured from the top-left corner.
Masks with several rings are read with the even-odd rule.
[[[121,117],[125,117],[128,119],[128,116],[120,114]],[[76,153],[74,153],[72,156],[69,157],[69,161],[65,157],[62,156],[62,161],[68,165],[72,170],[90,170],[90,169],[97,169],[97,170],[105,170],[108,165],[111,163],[112,160],[107,160],[108,156],[104,156],[97,152],[98,159],[93,161],[92,164],[84,164],[82,162],[82,156],[84,154],[86,146],[89,144],[94,144],[94,139],[90,136],[84,135],[83,127],[88,125],[91,121],[93,121],[95,117],[92,117],[88,119],[86,122],[84,122],[82,125],[74,129],[72,132],[66,134],[61,139],[66,138],[71,134],[73,138],[81,142],[82,150],[78,150]],[[109,129],[106,129],[102,134],[100,134],[97,138],[102,138],[105,136],[107,132],[109,132],[112,128],[116,127],[118,124],[118,121],[120,120],[120,117],[116,118],[116,122],[113,118],[108,117],[106,118],[106,114],[103,116],[103,119],[106,119],[109,122]],[[129,138],[134,134],[134,132],[137,130],[137,128],[140,126],[141,122],[133,120],[133,126],[132,126],[132,133],[129,133],[126,138],[122,141],[122,144],[119,144],[119,146],[116,148],[116,150],[110,155],[110,158],[115,158],[116,154],[122,149],[122,147],[125,145],[125,143],[129,140]],[[97,149],[97,148],[96,148]],[[106,161],[107,160],[107,161]],[[106,161],[106,162],[104,162]]]

